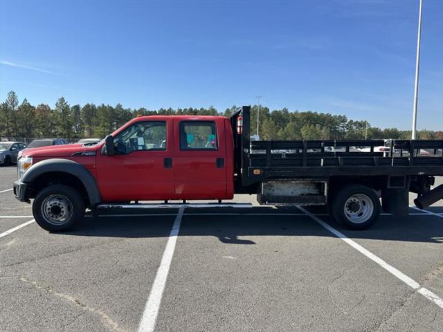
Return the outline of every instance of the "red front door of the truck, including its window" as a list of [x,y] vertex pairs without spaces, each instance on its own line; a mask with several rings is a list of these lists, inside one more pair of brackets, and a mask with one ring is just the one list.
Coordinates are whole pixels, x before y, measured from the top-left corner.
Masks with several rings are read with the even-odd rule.
[[97,156],[103,201],[174,198],[172,120],[135,122],[114,137],[114,156]]

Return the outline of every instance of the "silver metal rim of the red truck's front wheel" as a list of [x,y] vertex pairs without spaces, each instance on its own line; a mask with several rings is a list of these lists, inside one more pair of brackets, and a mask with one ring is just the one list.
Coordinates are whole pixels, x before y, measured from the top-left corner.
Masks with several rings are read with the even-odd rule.
[[60,194],[49,195],[42,203],[42,215],[52,225],[63,225],[69,222],[73,212],[71,201]]

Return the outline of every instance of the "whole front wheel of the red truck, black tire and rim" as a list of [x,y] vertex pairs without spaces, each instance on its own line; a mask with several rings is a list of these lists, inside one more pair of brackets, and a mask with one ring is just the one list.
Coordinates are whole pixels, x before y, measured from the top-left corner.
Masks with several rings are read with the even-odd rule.
[[[33,203],[33,215],[40,227],[62,232],[84,217],[84,199],[78,190],[67,185],[50,185],[39,192]],[[59,221],[56,219],[60,218]]]

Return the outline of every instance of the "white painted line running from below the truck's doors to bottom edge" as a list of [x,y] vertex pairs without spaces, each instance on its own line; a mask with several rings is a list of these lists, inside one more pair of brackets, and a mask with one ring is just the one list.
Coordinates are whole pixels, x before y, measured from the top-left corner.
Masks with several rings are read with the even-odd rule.
[[138,332],[154,331],[157,315],[159,314],[161,297],[165,289],[166,279],[168,279],[172,257],[174,256],[175,243],[177,243],[183,211],[184,208],[179,209],[179,213],[175,217],[174,225],[172,225],[168,243],[166,243],[166,248],[161,258],[159,270],[157,270],[154,284],[152,284],[150,297],[147,299],[145,311],[138,326]]

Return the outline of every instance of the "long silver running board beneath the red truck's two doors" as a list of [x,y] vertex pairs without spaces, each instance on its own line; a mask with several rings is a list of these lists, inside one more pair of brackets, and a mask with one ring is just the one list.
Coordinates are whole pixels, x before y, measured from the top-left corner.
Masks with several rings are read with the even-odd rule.
[[251,203],[134,203],[100,204],[99,210],[107,209],[179,209],[179,208],[252,208]]

